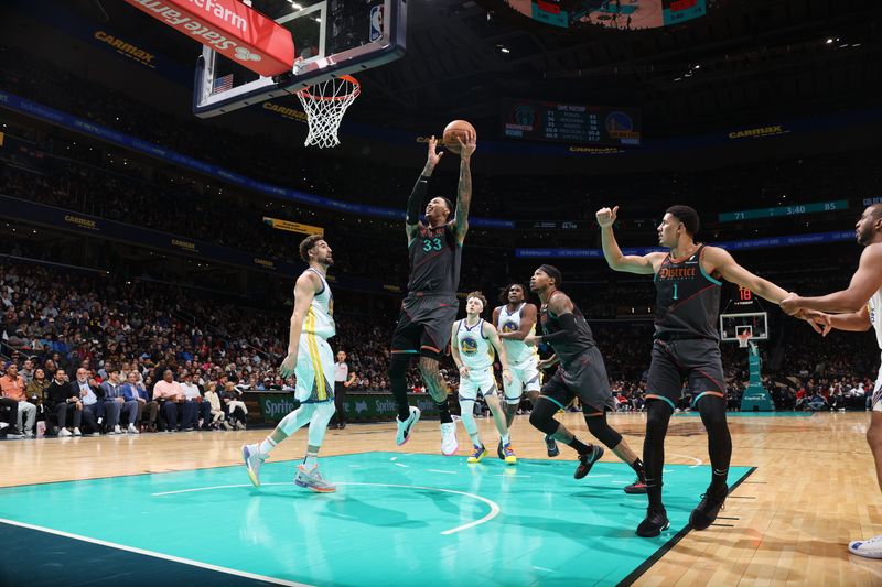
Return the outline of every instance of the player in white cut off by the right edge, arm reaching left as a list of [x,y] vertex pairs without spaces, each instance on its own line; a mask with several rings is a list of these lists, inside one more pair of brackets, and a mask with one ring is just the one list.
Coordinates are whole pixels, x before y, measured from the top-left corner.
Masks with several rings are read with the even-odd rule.
[[[863,331],[875,328],[875,338],[882,349],[882,205],[869,206],[854,226],[858,244],[864,247],[858,271],[848,289],[820,297],[802,297],[792,293],[781,307],[790,315],[800,308],[836,312],[825,316],[825,336],[832,328]],[[882,489],[882,367],[873,388],[870,427],[867,442],[873,454],[875,475]],[[882,558],[882,535],[869,540],[856,540],[848,550],[858,556]]]

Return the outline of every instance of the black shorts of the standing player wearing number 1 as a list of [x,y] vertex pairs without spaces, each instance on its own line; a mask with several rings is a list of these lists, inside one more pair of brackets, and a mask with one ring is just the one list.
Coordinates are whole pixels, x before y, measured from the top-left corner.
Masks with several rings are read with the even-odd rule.
[[692,407],[704,395],[725,400],[725,377],[717,340],[656,339],[653,343],[646,399],[663,400],[675,410],[684,396],[684,381]]

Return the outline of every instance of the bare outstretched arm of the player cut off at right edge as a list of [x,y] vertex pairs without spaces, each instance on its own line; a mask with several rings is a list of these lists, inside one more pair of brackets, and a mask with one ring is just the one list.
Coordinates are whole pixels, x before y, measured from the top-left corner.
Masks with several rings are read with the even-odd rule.
[[781,304],[787,314],[800,307],[821,312],[860,312],[873,294],[882,287],[882,243],[868,246],[861,253],[858,271],[851,276],[847,290],[819,297],[802,297],[789,294]]

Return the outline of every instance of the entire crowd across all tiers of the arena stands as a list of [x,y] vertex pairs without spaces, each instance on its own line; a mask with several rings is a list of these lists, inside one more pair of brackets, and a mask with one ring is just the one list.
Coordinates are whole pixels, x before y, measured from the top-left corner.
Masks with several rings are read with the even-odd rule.
[[[402,207],[418,171],[392,167],[391,162],[344,161],[302,150],[294,155],[291,146],[271,137],[206,131],[203,122],[175,120],[18,50],[0,46],[0,55],[9,57],[0,59],[0,87],[4,89],[257,180],[335,199]],[[0,154],[4,157],[0,193],[4,195],[271,259],[293,257],[291,236],[261,221],[268,210],[284,215],[278,200],[209,186],[196,174],[183,171],[179,174],[143,159],[130,164],[125,151],[95,140],[78,140],[66,131],[25,134],[39,156],[31,153],[33,156],[25,154],[21,159],[13,154],[14,161],[6,161],[9,154]],[[240,157],[241,153],[248,157]],[[872,194],[880,187],[879,178],[868,173],[874,169],[875,157],[878,151],[868,150],[713,171],[635,173],[628,175],[627,182],[620,175],[601,175],[591,177],[589,187],[585,178],[577,175],[557,176],[549,182],[538,175],[499,177],[476,173],[474,192],[478,196],[472,214],[510,218],[516,209],[529,209],[537,203],[547,207],[549,202],[566,197],[573,203],[566,215],[582,226],[592,226],[595,207],[627,202],[631,220],[623,220],[622,230],[639,233],[648,239],[642,243],[653,244],[653,215],[659,214],[658,202],[700,194],[707,203],[702,211],[710,215],[721,211],[718,206],[731,202],[739,202],[744,208],[782,205],[788,199],[833,196],[838,199],[842,194]],[[280,161],[286,164],[280,165]],[[452,189],[456,181],[453,173],[439,171],[438,181]],[[745,199],[744,194],[750,196]],[[294,206],[289,211],[291,208]],[[315,214],[297,209],[301,214]],[[399,224],[346,219],[340,215],[333,221],[331,213],[318,214],[322,218],[320,224],[333,225],[330,235],[335,239],[334,272],[381,278],[387,283],[404,285],[408,268]],[[548,214],[553,218],[563,211],[556,208]],[[849,224],[843,224],[843,218],[813,217],[799,229],[847,229]],[[723,235],[725,238],[782,231],[779,226],[771,224],[750,227],[750,232],[743,233],[739,231],[746,230],[744,225],[721,229],[710,222],[710,227],[707,238],[718,237],[719,230],[730,231]],[[794,227],[795,224],[790,226]],[[474,228],[470,246],[464,249],[461,282],[493,296],[515,268],[525,281],[530,271],[525,263],[533,261],[517,261],[510,256],[515,246],[534,244],[524,242],[525,235],[530,238],[540,231],[491,233]],[[536,244],[598,246],[596,241],[568,242],[566,232],[545,236],[551,240],[539,240]],[[782,286],[813,294],[828,291],[839,282],[845,284],[845,269],[853,264],[854,256],[849,250],[816,259],[802,273],[798,263],[782,267],[779,261],[772,262],[761,254],[753,264],[754,259],[746,253],[745,257],[749,267]],[[822,262],[830,272],[820,271],[818,263]],[[381,275],[377,274],[378,267]],[[607,271],[601,273],[605,268],[598,261],[570,267],[564,268],[564,289],[573,287],[578,293],[574,298],[580,300],[590,318],[621,317],[628,306],[636,308],[635,315],[652,314],[654,292],[648,282],[610,276]],[[811,271],[815,275],[824,273],[824,278],[811,276]],[[152,431],[163,423],[171,428],[179,425],[179,418],[184,428],[240,426],[247,422],[245,404],[239,405],[243,389],[292,389],[293,381],[283,380],[278,372],[286,352],[288,316],[277,309],[243,311],[240,304],[229,300],[189,295],[180,287],[19,263],[0,265],[0,312],[4,349],[0,355],[12,363],[3,368],[0,381],[8,380],[3,384],[14,388],[10,393],[28,398],[24,403],[33,405],[18,410],[24,427],[34,427],[32,418],[37,417],[54,422],[60,430],[72,427],[80,433],[93,428],[116,432],[120,422],[138,432],[141,426]],[[357,377],[353,390],[388,389],[388,341],[394,323],[395,316],[388,315],[340,315],[337,337],[332,344],[335,349],[348,352],[349,369]],[[641,410],[652,323],[601,322],[593,324],[593,328],[620,407]],[[776,356],[766,361],[764,374],[779,407],[854,406],[872,389],[870,377],[879,361],[872,337],[835,333],[822,339],[800,323],[787,331],[786,343],[781,344],[783,352],[774,352],[778,345],[774,340],[763,349],[768,357]],[[730,406],[736,409],[747,379],[746,354],[724,345],[724,365]],[[10,377],[13,370],[18,374]],[[166,370],[172,381],[165,381]],[[451,390],[455,390],[456,370],[445,366],[442,373]],[[18,389],[19,376],[24,381],[23,391]],[[135,381],[130,382],[130,378]],[[417,391],[421,389],[416,368],[409,374],[409,384]],[[66,396],[65,385],[71,392]],[[96,407],[89,407],[93,405]],[[525,404],[524,409],[529,406]],[[9,417],[10,411],[10,402],[0,402],[0,416]],[[66,426],[68,422],[73,426]]]

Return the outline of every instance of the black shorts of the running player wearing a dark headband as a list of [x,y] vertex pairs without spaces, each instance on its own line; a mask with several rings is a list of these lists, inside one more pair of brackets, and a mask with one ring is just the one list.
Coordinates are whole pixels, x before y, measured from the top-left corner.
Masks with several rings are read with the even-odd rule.
[[603,355],[596,347],[566,367],[561,363],[542,385],[541,396],[553,401],[561,410],[573,398],[579,398],[585,413],[602,413],[615,407]]

